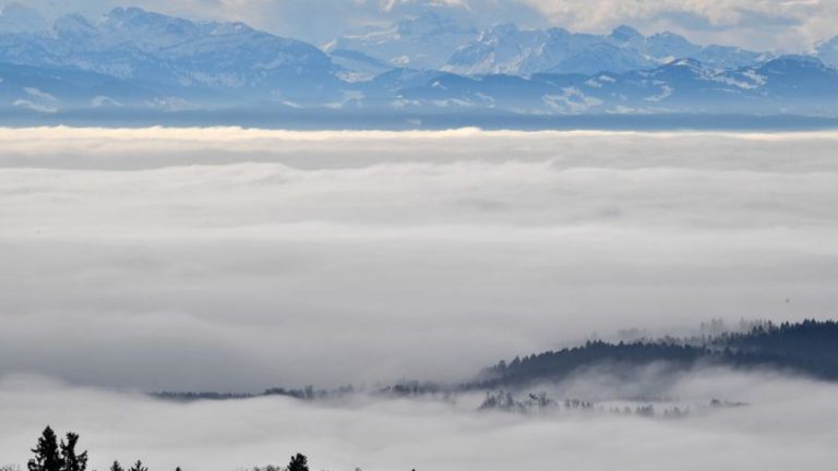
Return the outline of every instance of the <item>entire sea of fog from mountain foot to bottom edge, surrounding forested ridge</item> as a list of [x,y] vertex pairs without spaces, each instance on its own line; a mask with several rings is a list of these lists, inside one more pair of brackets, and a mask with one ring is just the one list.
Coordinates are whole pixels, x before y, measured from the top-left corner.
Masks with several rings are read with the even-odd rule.
[[456,382],[836,286],[838,132],[0,129],[0,466],[51,423],[99,470],[833,469],[838,388],[767,373],[678,421],[142,391]]

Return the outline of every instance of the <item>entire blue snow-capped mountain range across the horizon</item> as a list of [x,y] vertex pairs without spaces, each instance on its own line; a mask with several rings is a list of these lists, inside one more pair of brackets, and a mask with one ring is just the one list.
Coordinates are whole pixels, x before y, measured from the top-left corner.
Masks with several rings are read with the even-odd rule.
[[51,23],[16,3],[0,12],[5,117],[232,108],[838,117],[836,65],[838,37],[781,56],[627,26],[480,31],[429,12],[320,48],[135,8]]

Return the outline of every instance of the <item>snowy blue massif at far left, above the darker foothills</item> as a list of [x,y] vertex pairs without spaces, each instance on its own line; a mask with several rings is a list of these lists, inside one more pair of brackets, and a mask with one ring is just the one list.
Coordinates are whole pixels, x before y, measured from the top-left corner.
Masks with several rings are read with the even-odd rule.
[[297,99],[327,94],[338,83],[330,58],[306,43],[242,23],[191,22],[135,8],[115,9],[98,22],[64,16],[44,34],[2,36],[0,61]]

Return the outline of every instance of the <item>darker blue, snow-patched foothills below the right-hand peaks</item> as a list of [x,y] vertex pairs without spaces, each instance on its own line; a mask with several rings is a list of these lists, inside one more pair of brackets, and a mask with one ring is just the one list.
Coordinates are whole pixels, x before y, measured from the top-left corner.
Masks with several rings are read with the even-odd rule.
[[[393,71],[358,84],[366,105],[404,109],[496,109],[527,114],[838,114],[838,71],[806,57],[719,70],[679,60],[623,74],[462,76]],[[375,100],[373,100],[375,99]]]

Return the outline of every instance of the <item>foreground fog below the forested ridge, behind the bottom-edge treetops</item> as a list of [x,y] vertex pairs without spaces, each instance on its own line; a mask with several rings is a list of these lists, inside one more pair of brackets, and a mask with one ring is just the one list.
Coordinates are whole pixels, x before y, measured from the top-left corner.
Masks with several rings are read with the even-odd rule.
[[[597,385],[586,377],[570,385]],[[32,377],[0,379],[0,462],[22,464],[46,423],[81,434],[93,469],[136,459],[152,470],[231,471],[286,463],[315,470],[487,469],[577,471],[827,471],[838,421],[831,384],[706,371],[667,392],[682,403],[713,397],[747,407],[696,411],[683,420],[599,413],[478,413],[480,398],[357,400],[303,404],[283,398],[170,403],[68,387]]]

